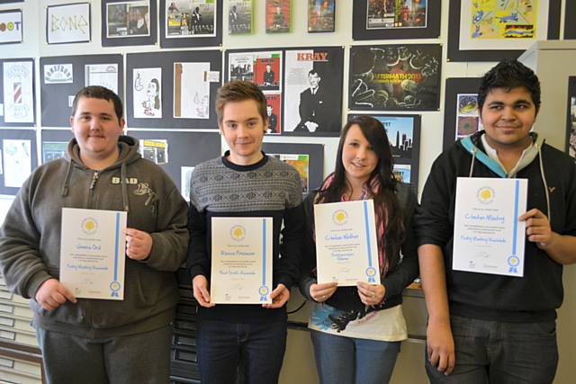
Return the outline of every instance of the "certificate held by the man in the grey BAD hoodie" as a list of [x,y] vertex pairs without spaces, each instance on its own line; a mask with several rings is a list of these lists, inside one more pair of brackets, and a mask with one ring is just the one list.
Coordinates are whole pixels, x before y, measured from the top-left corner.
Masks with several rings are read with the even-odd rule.
[[124,299],[127,213],[62,209],[60,282],[76,298]]

